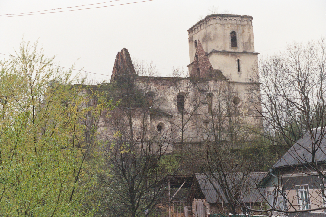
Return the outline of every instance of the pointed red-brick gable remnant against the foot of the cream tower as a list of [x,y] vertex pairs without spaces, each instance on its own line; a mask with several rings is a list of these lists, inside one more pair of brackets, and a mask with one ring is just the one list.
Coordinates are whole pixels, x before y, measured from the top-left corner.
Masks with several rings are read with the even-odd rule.
[[190,72],[191,78],[226,79],[221,70],[213,69],[206,52],[198,40],[194,63]]

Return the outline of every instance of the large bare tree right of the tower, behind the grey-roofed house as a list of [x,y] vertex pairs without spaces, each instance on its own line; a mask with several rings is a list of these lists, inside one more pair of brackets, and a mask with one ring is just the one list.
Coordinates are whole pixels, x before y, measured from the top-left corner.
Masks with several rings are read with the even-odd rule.
[[307,130],[324,124],[325,43],[325,38],[306,45],[293,43],[259,62],[254,79],[261,83],[257,88],[265,132],[286,148]]

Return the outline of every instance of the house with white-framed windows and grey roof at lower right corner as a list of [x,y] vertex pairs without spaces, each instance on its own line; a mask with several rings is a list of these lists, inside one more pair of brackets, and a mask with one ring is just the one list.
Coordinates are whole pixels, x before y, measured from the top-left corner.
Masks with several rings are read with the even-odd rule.
[[326,216],[325,136],[325,127],[307,131],[265,175],[260,186],[266,188],[269,207],[307,210],[290,216]]

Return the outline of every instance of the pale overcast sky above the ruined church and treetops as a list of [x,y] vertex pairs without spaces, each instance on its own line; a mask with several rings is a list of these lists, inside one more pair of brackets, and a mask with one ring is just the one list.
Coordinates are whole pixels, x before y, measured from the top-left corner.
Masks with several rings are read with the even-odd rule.
[[[0,0],[0,15],[102,3],[108,0]],[[293,41],[326,36],[325,0],[116,0],[101,7],[29,16],[0,16],[0,53],[14,54],[25,41],[43,45],[56,62],[90,74],[95,82],[110,80],[114,58],[126,47],[133,58],[153,61],[165,76],[189,62],[187,30],[215,7],[218,13],[250,15],[258,57],[272,55]],[[102,7],[125,4],[119,6]],[[67,10],[67,9],[65,9]],[[60,10],[55,10],[60,11]],[[48,11],[52,12],[52,11]],[[44,12],[42,12],[44,13]],[[7,56],[0,54],[0,60]],[[78,60],[79,59],[79,60]],[[78,61],[77,61],[78,60]]]

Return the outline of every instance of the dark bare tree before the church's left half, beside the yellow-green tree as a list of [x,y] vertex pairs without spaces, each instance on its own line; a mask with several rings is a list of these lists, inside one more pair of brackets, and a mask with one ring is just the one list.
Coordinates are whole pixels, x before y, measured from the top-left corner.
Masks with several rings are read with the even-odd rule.
[[162,170],[162,157],[171,151],[174,127],[161,123],[170,118],[160,109],[166,94],[153,91],[149,82],[155,66],[141,62],[135,71],[142,76],[106,87],[118,105],[101,129],[102,140],[108,142],[103,147],[106,172],[99,173],[100,185],[112,199],[101,205],[102,215],[147,216],[167,201],[170,174]]

